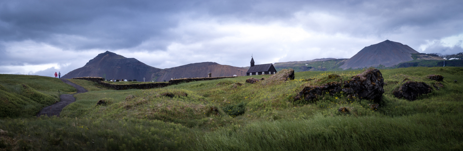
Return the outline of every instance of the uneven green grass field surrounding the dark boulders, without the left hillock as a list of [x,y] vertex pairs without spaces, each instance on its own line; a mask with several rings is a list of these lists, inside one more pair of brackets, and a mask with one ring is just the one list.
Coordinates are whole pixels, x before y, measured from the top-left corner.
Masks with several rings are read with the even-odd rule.
[[[71,80],[89,92],[75,95],[62,117],[0,118],[0,150],[463,150],[463,67],[381,70],[387,85],[377,110],[369,100],[342,93],[313,103],[293,99],[305,85],[332,81],[328,75],[348,80],[361,72],[296,72],[286,82],[257,75],[124,91]],[[443,88],[415,101],[392,94],[406,78],[435,84],[426,79],[431,74],[444,76]],[[251,85],[244,82],[250,77],[266,79]],[[309,78],[315,80],[303,80]],[[60,85],[30,87],[50,94]],[[107,105],[97,106],[99,100]],[[339,113],[340,107],[350,113]]]

